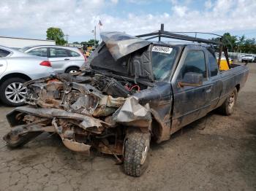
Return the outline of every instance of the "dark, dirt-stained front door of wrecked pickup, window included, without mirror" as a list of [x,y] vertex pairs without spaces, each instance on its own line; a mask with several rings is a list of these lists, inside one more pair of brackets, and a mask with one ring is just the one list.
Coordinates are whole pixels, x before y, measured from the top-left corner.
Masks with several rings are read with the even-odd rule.
[[[176,78],[172,82],[174,104],[171,133],[206,115],[211,105],[213,87],[208,78],[206,50],[203,47],[185,47],[178,66]],[[203,85],[178,85],[187,72],[203,74]]]

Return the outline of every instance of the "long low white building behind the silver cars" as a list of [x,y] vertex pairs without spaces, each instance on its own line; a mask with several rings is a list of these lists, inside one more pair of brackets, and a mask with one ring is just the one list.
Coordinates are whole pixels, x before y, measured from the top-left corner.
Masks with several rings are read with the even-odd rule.
[[56,42],[53,40],[25,39],[0,36],[0,45],[12,48],[22,48],[34,45],[56,45]]

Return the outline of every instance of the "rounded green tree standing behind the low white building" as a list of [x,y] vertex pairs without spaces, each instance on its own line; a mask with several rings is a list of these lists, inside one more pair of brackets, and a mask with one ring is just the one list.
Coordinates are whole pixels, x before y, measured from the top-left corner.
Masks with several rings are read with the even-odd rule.
[[57,45],[63,45],[67,43],[64,39],[64,33],[61,28],[48,28],[46,31],[46,36],[48,40],[54,40]]

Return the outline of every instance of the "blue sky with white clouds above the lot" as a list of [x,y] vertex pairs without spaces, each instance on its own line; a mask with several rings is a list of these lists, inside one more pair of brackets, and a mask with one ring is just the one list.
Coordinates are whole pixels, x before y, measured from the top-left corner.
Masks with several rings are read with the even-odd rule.
[[[143,34],[157,31],[205,31],[256,37],[256,0],[2,0],[0,36],[45,39],[54,26],[69,42],[101,31]],[[97,36],[99,38],[99,36]]]

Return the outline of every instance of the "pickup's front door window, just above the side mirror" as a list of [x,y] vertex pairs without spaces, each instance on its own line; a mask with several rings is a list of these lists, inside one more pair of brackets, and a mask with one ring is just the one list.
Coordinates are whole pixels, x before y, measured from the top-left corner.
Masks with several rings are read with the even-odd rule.
[[203,78],[207,77],[206,58],[203,51],[193,50],[187,53],[182,68],[182,77],[184,77],[184,74],[187,72],[195,72],[203,74]]

